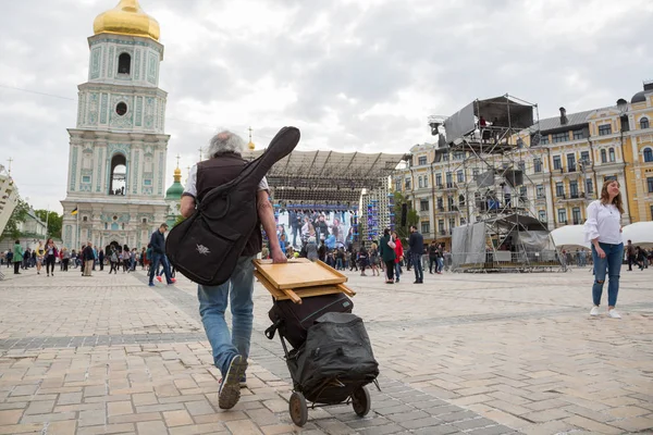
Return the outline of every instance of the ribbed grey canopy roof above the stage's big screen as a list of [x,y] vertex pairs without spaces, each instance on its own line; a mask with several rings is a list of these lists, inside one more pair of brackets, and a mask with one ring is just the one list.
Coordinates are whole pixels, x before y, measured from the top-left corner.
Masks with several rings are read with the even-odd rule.
[[[244,156],[254,160],[264,150]],[[358,208],[362,189],[387,183],[405,154],[293,151],[268,172],[275,203],[283,208]]]

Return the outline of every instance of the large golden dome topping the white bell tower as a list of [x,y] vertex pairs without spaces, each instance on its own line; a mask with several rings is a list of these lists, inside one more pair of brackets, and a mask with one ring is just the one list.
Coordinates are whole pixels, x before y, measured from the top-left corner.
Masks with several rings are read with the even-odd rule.
[[93,23],[93,30],[96,35],[132,35],[152,38],[157,41],[161,34],[157,20],[140,9],[138,0],[120,0],[115,8],[96,17]]

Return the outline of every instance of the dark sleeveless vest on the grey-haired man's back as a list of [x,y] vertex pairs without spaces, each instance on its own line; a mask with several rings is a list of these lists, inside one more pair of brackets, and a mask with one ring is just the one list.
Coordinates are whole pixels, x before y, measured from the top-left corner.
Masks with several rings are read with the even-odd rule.
[[[247,161],[236,153],[221,154],[197,164],[197,202],[201,202],[213,187],[222,186],[238,176]],[[255,231],[249,236],[242,257],[252,257],[261,251],[263,245],[261,222],[257,216]]]

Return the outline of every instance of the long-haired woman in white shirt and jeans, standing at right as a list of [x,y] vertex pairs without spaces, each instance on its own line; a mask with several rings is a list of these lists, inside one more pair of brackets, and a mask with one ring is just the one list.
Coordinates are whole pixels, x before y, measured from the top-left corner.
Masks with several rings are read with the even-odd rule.
[[594,285],[592,299],[594,307],[590,315],[599,315],[601,295],[605,275],[607,285],[607,315],[613,319],[621,316],[615,311],[617,295],[619,293],[619,273],[624,259],[624,241],[621,239],[621,214],[624,213],[619,183],[608,179],[603,183],[601,199],[593,201],[588,207],[588,220],[584,224],[586,240],[592,244],[592,258],[594,259]]

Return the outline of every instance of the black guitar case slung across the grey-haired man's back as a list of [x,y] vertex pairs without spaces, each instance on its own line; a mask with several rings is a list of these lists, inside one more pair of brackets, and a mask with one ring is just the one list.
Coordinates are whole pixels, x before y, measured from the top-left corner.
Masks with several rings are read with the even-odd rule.
[[225,283],[257,227],[256,195],[270,167],[299,142],[299,129],[283,127],[258,159],[231,182],[211,189],[165,240],[165,253],[188,279],[207,286]]

